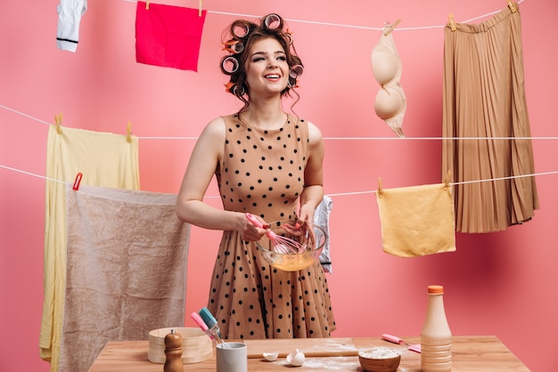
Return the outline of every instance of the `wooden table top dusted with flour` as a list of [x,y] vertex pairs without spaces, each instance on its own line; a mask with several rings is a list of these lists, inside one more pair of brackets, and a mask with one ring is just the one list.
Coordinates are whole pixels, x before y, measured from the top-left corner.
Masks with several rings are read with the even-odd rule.
[[[404,337],[411,344],[419,344],[418,337]],[[273,341],[273,340],[272,340]],[[258,341],[259,342],[259,341]],[[382,346],[397,349],[401,353],[398,371],[419,372],[421,355],[406,349],[406,346],[390,344],[379,337],[353,337],[353,344],[358,350]],[[261,340],[262,344],[267,340]],[[110,342],[95,360],[89,372],[162,372],[163,365],[147,359],[147,341]],[[292,340],[292,349],[297,348],[297,340]],[[272,350],[270,350],[271,352]],[[452,340],[453,368],[460,371],[529,371],[496,336],[454,336]],[[195,364],[185,364],[185,371],[215,371],[215,358]],[[284,358],[269,362],[263,359],[249,359],[250,371],[286,371],[291,366]],[[342,371],[362,371],[357,356],[307,358],[299,371],[324,371],[328,369]]]

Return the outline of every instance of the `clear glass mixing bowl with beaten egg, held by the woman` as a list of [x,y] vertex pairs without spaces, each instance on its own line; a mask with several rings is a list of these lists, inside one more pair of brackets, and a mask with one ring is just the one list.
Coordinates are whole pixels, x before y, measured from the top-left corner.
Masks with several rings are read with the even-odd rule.
[[271,266],[283,271],[299,271],[307,268],[312,263],[316,263],[324,249],[325,239],[327,239],[325,230],[320,226],[314,225],[313,232],[310,232],[304,230],[303,227],[300,229],[301,235],[295,237],[281,227],[285,223],[289,223],[291,226],[296,224],[293,221],[273,222],[270,223],[272,225],[270,229],[280,237],[279,239],[288,238],[298,241],[304,248],[303,252],[297,254],[276,252],[275,244],[264,236],[257,242],[259,255]]

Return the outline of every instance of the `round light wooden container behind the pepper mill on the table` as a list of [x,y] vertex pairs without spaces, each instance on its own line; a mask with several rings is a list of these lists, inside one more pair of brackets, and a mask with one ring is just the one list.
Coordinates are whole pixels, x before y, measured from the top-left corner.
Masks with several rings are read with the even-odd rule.
[[199,363],[213,356],[213,342],[200,328],[159,328],[149,332],[147,358],[152,363],[164,363],[165,336],[171,329],[182,336],[182,363]]

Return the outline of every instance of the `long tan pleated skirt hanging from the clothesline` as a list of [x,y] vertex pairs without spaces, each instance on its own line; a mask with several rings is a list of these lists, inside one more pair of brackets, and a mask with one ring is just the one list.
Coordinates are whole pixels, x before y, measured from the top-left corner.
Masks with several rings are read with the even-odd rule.
[[[442,179],[454,174],[455,230],[491,232],[538,209],[519,8],[444,31]],[[497,138],[493,138],[497,137]]]

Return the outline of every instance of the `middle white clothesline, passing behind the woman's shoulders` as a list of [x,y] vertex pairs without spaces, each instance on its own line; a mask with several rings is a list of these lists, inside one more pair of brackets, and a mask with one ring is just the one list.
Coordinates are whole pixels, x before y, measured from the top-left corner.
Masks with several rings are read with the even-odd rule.
[[[37,117],[32,117],[28,114],[25,114],[17,109],[12,109],[0,104],[0,108],[12,111],[13,113],[19,114],[22,117],[28,117],[32,120],[37,121],[38,123],[45,124],[45,125],[52,125],[52,123],[48,123],[45,120],[41,120]],[[63,126],[62,126],[63,128]],[[196,136],[138,136],[139,140],[188,140],[188,141],[196,141],[198,137]],[[328,141],[409,141],[409,140],[419,140],[419,141],[464,141],[464,140],[558,140],[558,136],[552,137],[324,137],[324,140]]]

